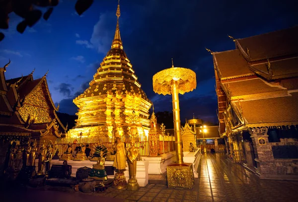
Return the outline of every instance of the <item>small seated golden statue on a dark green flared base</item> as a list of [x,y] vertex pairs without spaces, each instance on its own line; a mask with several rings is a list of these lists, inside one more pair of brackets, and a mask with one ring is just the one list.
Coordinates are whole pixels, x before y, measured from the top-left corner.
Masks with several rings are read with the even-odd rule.
[[105,156],[103,154],[103,151],[100,151],[100,157],[98,158],[97,164],[93,165],[93,168],[91,169],[88,178],[91,178],[94,180],[107,181],[108,176],[104,168],[104,163],[105,163]]

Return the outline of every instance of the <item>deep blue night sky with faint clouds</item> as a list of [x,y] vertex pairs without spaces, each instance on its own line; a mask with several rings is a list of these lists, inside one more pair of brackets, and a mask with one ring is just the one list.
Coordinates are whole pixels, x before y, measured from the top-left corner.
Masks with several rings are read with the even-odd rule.
[[[11,60],[6,79],[27,75],[47,80],[60,112],[74,114],[74,97],[88,87],[111,47],[117,0],[94,0],[81,16],[74,0],[60,0],[48,21],[41,19],[23,34],[22,20],[10,13],[9,29],[1,30],[0,64]],[[197,88],[180,95],[181,119],[217,122],[213,60],[205,47],[220,52],[235,48],[227,35],[244,38],[298,25],[293,0],[120,0],[120,32],[124,50],[154,111],[171,111],[171,96],[153,92],[152,76],[171,67],[197,74]]]

